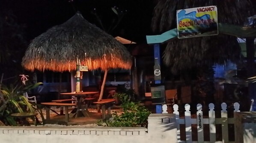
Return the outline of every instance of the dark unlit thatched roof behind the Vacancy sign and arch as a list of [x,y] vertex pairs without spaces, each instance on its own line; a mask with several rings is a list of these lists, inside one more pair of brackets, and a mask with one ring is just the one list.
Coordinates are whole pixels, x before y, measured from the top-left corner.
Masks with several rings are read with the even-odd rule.
[[[176,28],[176,10],[200,6],[217,6],[218,22],[243,26],[253,15],[251,0],[158,0],[152,18],[152,30],[161,34]],[[227,60],[238,62],[241,49],[236,37],[216,36],[175,39],[167,41],[164,63],[173,72],[201,65],[223,64]]]

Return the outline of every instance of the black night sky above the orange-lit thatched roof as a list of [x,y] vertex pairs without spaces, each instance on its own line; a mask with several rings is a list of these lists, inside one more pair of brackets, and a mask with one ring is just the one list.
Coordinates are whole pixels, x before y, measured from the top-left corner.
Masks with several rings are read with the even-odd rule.
[[101,28],[91,13],[96,9],[107,29],[116,18],[116,14],[111,10],[114,6],[118,7],[119,11],[127,12],[110,34],[137,43],[146,43],[146,35],[152,33],[150,24],[154,0],[0,0],[1,13],[11,12],[17,17],[17,23],[25,27],[24,33],[28,41],[52,26],[64,23],[76,11],[80,11],[86,20]]

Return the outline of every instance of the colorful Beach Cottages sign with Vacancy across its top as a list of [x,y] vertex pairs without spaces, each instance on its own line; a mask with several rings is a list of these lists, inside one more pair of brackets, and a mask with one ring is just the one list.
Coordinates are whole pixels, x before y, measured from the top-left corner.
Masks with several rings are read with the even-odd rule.
[[177,10],[178,38],[218,34],[217,7],[205,6]]

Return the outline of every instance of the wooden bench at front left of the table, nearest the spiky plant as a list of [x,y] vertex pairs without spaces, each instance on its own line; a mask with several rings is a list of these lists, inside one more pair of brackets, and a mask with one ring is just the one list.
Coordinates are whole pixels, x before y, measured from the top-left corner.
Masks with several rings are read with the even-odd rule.
[[[65,108],[65,122],[69,121],[68,106],[76,106],[77,103],[56,103],[56,102],[45,102],[41,103],[46,106],[64,106]],[[50,119],[50,108],[46,108],[46,119]]]

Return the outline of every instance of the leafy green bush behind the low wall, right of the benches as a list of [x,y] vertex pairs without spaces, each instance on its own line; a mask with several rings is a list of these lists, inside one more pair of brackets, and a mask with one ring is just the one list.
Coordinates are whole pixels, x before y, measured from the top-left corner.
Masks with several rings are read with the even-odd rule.
[[150,111],[144,106],[140,106],[138,102],[131,101],[131,97],[125,93],[116,94],[121,100],[122,114],[114,112],[112,120],[106,120],[107,126],[125,126],[125,127],[138,127],[147,126],[147,119]]

